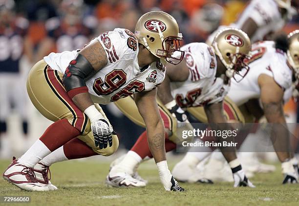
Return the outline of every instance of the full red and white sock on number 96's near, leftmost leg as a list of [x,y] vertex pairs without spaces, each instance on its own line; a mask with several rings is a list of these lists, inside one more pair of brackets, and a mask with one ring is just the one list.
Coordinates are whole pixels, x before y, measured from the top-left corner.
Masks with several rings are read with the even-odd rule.
[[42,137],[18,161],[33,168],[44,157],[79,135],[80,131],[73,127],[67,119],[58,120],[46,129]]

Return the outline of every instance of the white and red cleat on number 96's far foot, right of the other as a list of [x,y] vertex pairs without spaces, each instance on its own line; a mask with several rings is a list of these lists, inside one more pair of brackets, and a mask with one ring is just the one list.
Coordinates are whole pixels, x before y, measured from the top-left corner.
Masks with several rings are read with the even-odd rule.
[[[43,183],[46,184],[47,187],[49,188],[49,190],[57,190],[57,186],[55,186],[54,184],[52,184],[49,180],[51,180],[51,172],[50,172],[50,168],[42,163],[37,163],[34,166],[33,169],[35,176],[36,176],[36,180],[39,183]],[[48,178],[48,173],[50,174],[50,178]]]

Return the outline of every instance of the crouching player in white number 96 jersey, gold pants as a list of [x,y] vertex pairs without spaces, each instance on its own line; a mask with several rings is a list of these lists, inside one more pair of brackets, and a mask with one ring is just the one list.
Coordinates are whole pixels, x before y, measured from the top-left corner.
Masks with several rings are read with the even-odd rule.
[[[19,160],[13,158],[3,178],[24,190],[57,189],[47,178],[51,164],[113,154],[118,138],[97,103],[134,95],[164,188],[184,191],[168,169],[165,130],[156,103],[156,87],[165,77],[163,65],[178,64],[184,57],[179,32],[173,17],[152,11],[140,17],[135,35],[116,28],[82,50],[50,53],[33,66],[27,80],[29,97],[54,123]],[[148,77],[155,81],[147,81]],[[124,178],[113,181],[128,186]]]

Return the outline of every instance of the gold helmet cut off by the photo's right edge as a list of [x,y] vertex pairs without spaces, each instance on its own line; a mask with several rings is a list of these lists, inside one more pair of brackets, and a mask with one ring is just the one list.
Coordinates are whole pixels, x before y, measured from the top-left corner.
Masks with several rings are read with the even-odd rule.
[[295,30],[288,35],[289,50],[287,51],[288,62],[299,78],[299,30]]

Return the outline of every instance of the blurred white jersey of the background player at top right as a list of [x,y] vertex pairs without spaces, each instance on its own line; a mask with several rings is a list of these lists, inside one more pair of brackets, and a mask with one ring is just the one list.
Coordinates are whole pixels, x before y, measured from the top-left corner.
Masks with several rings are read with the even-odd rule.
[[252,0],[240,15],[236,23],[228,26],[219,26],[208,38],[211,44],[216,33],[225,27],[241,29],[243,24],[251,18],[258,26],[256,33],[251,38],[252,42],[264,40],[265,37],[273,32],[281,30],[286,20],[282,18],[278,4],[275,0]]

